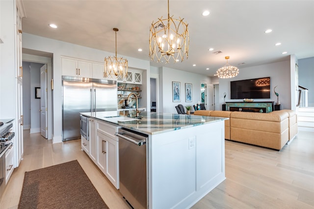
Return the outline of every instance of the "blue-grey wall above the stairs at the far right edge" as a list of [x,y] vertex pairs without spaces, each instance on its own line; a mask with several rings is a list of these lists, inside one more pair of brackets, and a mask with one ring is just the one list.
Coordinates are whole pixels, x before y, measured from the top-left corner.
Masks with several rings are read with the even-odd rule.
[[299,85],[309,89],[308,106],[314,107],[314,57],[298,59]]

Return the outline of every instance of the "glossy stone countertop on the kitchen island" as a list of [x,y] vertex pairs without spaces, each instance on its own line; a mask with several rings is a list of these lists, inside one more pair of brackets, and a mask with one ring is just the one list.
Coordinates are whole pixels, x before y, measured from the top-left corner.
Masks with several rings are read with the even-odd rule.
[[[135,115],[131,115],[131,119],[127,121],[128,118],[126,118],[126,116],[120,116],[119,111],[82,112],[80,114],[146,134],[175,131],[228,119],[202,115],[141,112],[141,119],[135,119]],[[119,118],[122,117],[125,118],[126,121],[120,122]]]

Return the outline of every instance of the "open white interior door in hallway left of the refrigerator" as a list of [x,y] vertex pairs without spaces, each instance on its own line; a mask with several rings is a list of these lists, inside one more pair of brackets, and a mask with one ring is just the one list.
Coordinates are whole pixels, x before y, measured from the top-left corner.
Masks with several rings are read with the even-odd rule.
[[47,64],[40,68],[40,133],[47,138]]

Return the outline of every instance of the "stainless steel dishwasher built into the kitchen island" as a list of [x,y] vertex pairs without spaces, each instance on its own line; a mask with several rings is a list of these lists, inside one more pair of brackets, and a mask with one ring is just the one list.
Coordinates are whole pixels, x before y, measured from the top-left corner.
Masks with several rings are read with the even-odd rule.
[[134,209],[148,208],[146,183],[146,142],[148,135],[120,128],[120,192]]

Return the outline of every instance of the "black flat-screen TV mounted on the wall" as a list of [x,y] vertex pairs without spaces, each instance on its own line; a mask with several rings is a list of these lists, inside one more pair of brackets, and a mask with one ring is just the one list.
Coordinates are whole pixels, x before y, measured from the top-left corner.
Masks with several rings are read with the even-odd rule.
[[270,77],[230,81],[231,99],[269,99]]

